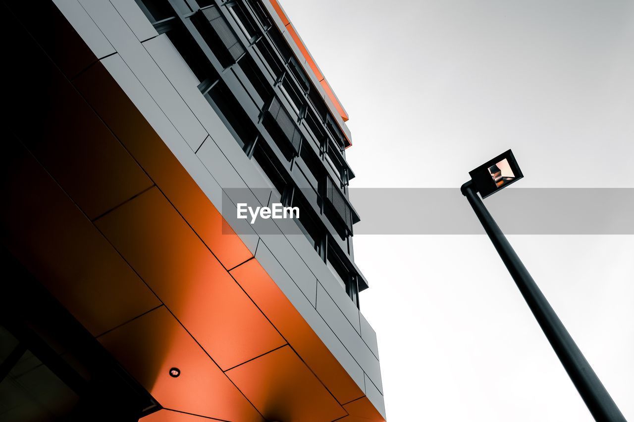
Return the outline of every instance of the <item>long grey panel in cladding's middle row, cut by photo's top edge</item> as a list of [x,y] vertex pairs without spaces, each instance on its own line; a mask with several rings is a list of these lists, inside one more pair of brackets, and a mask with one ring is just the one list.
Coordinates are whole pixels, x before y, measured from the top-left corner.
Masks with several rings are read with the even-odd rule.
[[121,58],[148,90],[176,129],[193,150],[207,137],[207,132],[190,108],[169,83],[152,56],[109,1],[81,0],[88,14],[117,49]]

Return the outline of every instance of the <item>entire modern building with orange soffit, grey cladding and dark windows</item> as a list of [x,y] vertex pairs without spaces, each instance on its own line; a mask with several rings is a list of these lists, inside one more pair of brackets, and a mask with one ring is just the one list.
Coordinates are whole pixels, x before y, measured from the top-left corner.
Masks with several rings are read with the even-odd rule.
[[347,114],[280,4],[2,7],[0,419],[384,420]]

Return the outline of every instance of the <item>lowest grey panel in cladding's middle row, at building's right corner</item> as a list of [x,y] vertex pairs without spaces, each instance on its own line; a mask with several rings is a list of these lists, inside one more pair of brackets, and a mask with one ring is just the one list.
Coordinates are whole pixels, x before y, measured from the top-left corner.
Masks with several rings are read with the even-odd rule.
[[378,359],[372,354],[370,348],[361,340],[361,336],[347,323],[346,317],[339,310],[335,302],[328,295],[320,283],[317,283],[317,312],[326,321],[335,335],[354,356],[356,362],[363,368],[363,372],[373,381],[379,391],[382,392],[381,369]]

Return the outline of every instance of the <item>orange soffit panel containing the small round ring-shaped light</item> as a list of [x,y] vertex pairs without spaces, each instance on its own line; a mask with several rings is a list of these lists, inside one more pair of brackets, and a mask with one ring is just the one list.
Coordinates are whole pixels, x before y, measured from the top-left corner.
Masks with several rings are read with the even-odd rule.
[[[98,340],[163,407],[229,421],[263,421],[165,307]],[[180,370],[178,378],[170,376],[171,368]]]

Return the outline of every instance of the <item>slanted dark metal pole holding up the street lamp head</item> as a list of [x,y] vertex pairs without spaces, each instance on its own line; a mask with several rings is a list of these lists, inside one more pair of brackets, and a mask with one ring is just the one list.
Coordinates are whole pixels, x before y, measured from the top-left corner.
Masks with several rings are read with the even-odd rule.
[[515,284],[524,296],[524,300],[533,312],[535,319],[540,324],[541,329],[548,338],[548,342],[555,350],[557,357],[561,361],[566,372],[573,380],[574,387],[581,395],[581,398],[588,406],[588,410],[597,421],[605,422],[626,422],[619,408],[605,390],[605,387],[598,379],[597,374],[592,370],[586,358],[581,354],[581,350],[574,343],[573,338],[561,323],[555,311],[550,307],[548,301],[541,293],[540,288],[535,284],[531,274],[528,273],[522,261],[517,257],[504,233],[498,227],[489,211],[484,207],[484,203],[477,193],[472,181],[462,185],[460,188],[462,195],[467,196],[467,200],[474,208],[475,215],[482,223],[484,231],[489,235],[489,239],[500,254],[500,258],[507,266]]

